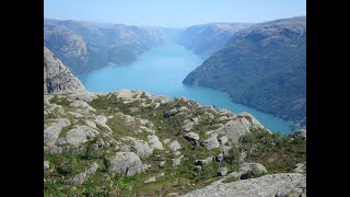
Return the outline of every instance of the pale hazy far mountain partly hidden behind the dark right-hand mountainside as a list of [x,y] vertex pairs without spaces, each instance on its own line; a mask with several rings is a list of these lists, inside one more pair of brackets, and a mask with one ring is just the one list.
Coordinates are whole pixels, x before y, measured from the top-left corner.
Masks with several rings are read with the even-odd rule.
[[252,24],[245,23],[210,23],[194,25],[185,28],[179,35],[178,43],[186,48],[203,56],[223,47],[226,42],[240,30]]

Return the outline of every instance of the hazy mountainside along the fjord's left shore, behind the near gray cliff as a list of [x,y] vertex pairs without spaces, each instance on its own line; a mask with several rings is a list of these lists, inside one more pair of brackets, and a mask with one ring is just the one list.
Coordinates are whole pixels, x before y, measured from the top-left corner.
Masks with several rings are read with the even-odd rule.
[[165,32],[147,26],[44,19],[45,46],[74,74],[136,60],[151,47],[164,44]]

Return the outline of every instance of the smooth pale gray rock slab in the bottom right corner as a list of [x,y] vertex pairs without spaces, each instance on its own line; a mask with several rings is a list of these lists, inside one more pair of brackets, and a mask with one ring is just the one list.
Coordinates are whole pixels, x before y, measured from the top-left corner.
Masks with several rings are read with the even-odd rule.
[[236,181],[232,183],[214,182],[203,188],[190,192],[185,197],[246,197],[246,196],[287,196],[289,194],[303,194],[303,187],[306,185],[306,175],[291,174],[271,174],[258,178]]

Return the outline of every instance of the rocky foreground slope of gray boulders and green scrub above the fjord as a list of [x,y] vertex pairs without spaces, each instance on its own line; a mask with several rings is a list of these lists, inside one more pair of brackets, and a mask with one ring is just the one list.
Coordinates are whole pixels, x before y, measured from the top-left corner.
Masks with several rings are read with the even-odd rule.
[[47,196],[182,195],[222,176],[255,178],[305,162],[305,140],[184,97],[56,92],[44,95],[44,117]]

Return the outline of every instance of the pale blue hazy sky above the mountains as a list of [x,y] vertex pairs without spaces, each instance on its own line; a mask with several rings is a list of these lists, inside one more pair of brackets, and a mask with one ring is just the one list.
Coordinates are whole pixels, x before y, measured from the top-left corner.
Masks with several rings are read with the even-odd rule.
[[44,0],[44,16],[151,26],[306,15],[306,0]]

